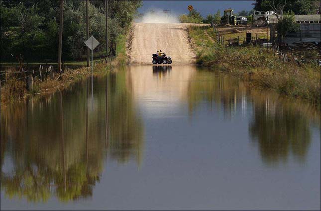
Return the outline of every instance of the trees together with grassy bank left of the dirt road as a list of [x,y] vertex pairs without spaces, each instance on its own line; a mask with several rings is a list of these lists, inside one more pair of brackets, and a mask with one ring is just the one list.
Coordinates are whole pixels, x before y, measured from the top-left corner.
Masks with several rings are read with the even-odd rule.
[[[113,53],[106,59],[94,60],[94,72],[112,70],[115,66],[125,64],[126,34],[142,1],[108,0],[107,4],[103,0],[88,1],[89,36],[94,35],[100,42],[94,51],[94,56],[99,58],[107,56],[106,5],[108,51]],[[53,72],[55,77],[50,75],[42,81],[39,77],[34,78],[32,90],[27,90],[25,74],[31,74],[32,69],[26,64],[57,64],[60,2],[1,0],[0,8],[0,62],[21,63],[19,70],[13,67],[5,73],[1,70],[1,106],[23,100],[30,94],[50,93],[91,74],[90,68],[65,68],[62,75]],[[65,1],[63,13],[62,60],[68,61],[64,63],[65,67],[86,66],[86,1]]]

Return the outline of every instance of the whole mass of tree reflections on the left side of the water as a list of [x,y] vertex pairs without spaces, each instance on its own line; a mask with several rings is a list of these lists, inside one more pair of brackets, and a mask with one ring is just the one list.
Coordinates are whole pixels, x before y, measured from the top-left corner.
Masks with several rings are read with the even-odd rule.
[[[76,84],[64,91],[62,100],[57,93],[37,103],[30,99],[9,106],[1,113],[1,189],[7,196],[28,201],[47,201],[52,195],[61,201],[89,197],[100,180],[109,148],[111,156],[121,162],[138,154],[142,124],[128,97],[130,86],[124,74],[113,82],[112,78],[107,78],[107,94],[106,78],[98,79],[104,82],[94,85],[99,90],[94,92],[93,103],[88,102],[89,86]],[[12,160],[13,166],[3,169],[5,159]]]

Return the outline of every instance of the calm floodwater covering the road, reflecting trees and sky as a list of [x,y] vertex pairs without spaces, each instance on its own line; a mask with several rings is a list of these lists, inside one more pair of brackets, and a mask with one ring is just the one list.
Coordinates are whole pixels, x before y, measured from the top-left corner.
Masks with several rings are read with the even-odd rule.
[[320,111],[196,66],[1,109],[1,210],[320,210]]

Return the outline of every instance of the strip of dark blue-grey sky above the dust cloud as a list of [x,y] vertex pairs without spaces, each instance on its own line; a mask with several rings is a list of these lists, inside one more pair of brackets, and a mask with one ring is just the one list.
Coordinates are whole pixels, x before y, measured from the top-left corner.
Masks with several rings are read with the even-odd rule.
[[217,9],[223,13],[224,9],[232,8],[234,12],[251,10],[254,0],[143,0],[143,6],[138,9],[144,13],[150,9],[171,9],[176,14],[188,13],[187,6],[193,5],[203,16],[216,13]]

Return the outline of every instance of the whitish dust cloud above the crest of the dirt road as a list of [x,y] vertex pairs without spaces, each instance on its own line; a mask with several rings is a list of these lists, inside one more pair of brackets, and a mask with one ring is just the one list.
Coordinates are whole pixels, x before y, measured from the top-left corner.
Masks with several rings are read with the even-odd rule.
[[163,10],[151,10],[143,14],[135,22],[140,23],[179,23],[178,15],[173,11],[164,13]]

